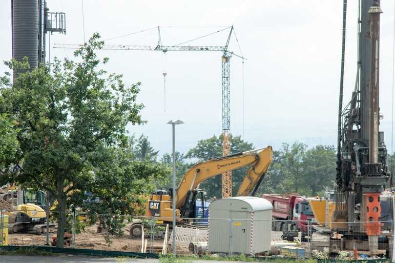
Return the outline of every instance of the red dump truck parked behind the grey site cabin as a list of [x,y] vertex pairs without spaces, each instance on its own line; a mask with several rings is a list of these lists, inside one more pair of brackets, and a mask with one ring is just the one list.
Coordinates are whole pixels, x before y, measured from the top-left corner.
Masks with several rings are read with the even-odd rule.
[[263,194],[273,205],[272,231],[299,230],[307,233],[308,221],[315,223],[309,198],[298,195]]

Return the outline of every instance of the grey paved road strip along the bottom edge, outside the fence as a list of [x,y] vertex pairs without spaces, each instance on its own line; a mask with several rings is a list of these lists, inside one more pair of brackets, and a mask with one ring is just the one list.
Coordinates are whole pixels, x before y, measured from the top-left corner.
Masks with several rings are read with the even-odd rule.
[[[73,255],[62,255],[62,256],[0,256],[0,262],[7,263],[158,263],[159,260],[154,259],[127,259],[127,258],[99,258],[99,257],[83,257]],[[219,261],[193,261],[194,263],[219,263]],[[235,261],[221,261],[221,263],[243,263]]]

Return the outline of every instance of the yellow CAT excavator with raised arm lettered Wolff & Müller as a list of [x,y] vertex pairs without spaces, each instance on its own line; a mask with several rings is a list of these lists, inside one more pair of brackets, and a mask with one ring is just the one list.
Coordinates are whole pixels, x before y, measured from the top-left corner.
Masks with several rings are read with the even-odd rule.
[[[224,172],[235,170],[249,165],[237,196],[254,195],[262,182],[266,171],[273,160],[271,146],[261,149],[240,152],[192,166],[182,178],[176,190],[176,217],[177,223],[186,224],[188,218],[196,218],[196,201],[200,199],[204,214],[204,192],[199,189],[200,183]],[[172,192],[170,190],[170,192]],[[166,191],[156,190],[149,196],[146,203],[145,216],[156,217],[160,223],[172,222],[172,196]],[[137,221],[130,227],[132,238],[141,237],[141,222]]]

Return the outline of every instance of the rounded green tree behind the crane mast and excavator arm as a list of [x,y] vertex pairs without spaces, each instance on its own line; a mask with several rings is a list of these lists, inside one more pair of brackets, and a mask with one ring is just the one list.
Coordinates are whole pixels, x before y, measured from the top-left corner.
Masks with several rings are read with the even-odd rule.
[[[252,143],[244,142],[241,136],[230,137],[231,153],[244,152],[253,149]],[[222,135],[219,137],[213,136],[211,138],[201,140],[197,145],[190,149],[185,158],[197,159],[199,162],[214,159],[222,156]],[[247,167],[236,169],[232,171],[232,193],[236,193],[244,176],[247,173]],[[221,176],[215,176],[208,179],[201,184],[201,188],[207,192],[209,198],[214,196],[220,198],[222,196],[221,190]]]

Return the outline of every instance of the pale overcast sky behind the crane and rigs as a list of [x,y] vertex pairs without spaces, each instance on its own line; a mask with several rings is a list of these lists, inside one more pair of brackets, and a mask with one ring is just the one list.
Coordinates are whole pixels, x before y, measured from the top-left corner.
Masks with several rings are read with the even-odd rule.
[[[391,150],[394,1],[381,1],[380,130]],[[73,50],[53,43],[81,44],[99,32],[106,44],[174,45],[233,25],[229,50],[243,55],[230,61],[230,131],[256,148],[282,142],[309,146],[336,144],[340,81],[342,0],[292,1],[137,1],[47,0],[50,11],[66,13],[66,34],[47,37],[47,59],[72,58]],[[116,38],[132,32],[144,32]],[[349,1],[346,30],[345,98],[349,101],[356,76],[357,1]],[[229,30],[189,42],[224,45]],[[1,0],[0,59],[10,60],[11,1]],[[111,39],[115,38],[115,39]],[[108,40],[111,39],[111,40]],[[240,48],[239,48],[239,45]],[[127,84],[141,82],[138,101],[142,126],[129,133],[148,136],[160,154],[171,151],[171,119],[176,149],[187,152],[199,140],[222,132],[221,52],[102,50],[108,72],[124,75]],[[6,71],[0,65],[0,72]],[[163,73],[166,72],[166,97]],[[244,97],[244,100],[243,100]],[[166,98],[166,99],[165,99]],[[166,107],[165,107],[166,101]],[[244,103],[243,103],[244,101]],[[244,113],[244,114],[243,114]]]

